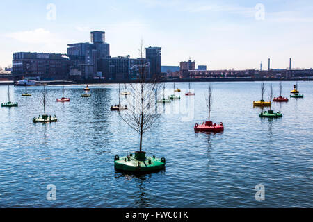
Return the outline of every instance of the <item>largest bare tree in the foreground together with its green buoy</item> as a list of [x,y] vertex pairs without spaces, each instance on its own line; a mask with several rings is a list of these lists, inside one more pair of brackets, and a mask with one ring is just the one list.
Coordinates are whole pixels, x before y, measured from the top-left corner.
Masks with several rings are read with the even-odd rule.
[[161,85],[158,82],[158,76],[149,74],[149,63],[143,58],[142,41],[139,53],[141,58],[137,65],[136,83],[128,84],[132,95],[127,97],[129,109],[120,112],[121,119],[139,134],[139,151],[135,152],[135,157],[132,154],[121,159],[118,155],[115,156],[114,167],[120,171],[158,171],[166,165],[165,158],[146,157],[143,151],[143,134],[153,126],[161,115],[156,110],[157,94]]

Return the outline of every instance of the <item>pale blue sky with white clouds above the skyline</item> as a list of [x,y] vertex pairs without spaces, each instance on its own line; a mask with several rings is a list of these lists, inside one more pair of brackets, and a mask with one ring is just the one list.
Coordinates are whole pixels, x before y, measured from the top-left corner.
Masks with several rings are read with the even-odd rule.
[[162,65],[311,68],[312,0],[10,0],[0,3],[0,66],[19,51],[66,53],[105,31],[111,56],[162,47]]

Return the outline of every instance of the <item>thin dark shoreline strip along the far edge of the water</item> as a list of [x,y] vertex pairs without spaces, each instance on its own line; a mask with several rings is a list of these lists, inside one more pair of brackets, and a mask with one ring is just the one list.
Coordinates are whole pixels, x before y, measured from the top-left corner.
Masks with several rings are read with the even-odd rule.
[[[303,78],[191,78],[191,79],[168,79],[160,80],[161,83],[223,83],[223,82],[259,82],[259,81],[312,81],[313,77]],[[71,80],[51,80],[51,81],[37,81],[38,85],[82,85],[82,84],[117,84],[117,83],[136,83],[133,81],[117,81],[117,80],[82,80],[82,81],[71,81]],[[14,81],[0,81],[0,85],[14,85]],[[21,85],[22,86],[22,85]],[[37,86],[37,85],[35,85]]]

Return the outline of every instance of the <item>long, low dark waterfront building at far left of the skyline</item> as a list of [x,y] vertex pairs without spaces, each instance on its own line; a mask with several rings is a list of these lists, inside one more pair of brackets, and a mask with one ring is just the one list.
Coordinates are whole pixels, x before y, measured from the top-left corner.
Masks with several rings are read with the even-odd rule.
[[70,60],[56,53],[18,52],[13,54],[12,74],[17,78],[35,77],[40,80],[68,78]]

